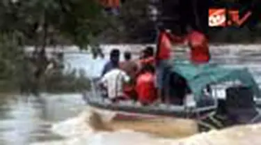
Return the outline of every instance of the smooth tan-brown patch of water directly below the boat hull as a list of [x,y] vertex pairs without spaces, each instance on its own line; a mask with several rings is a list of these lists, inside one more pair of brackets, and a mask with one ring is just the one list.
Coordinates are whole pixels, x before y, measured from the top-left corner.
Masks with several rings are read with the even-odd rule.
[[113,130],[129,129],[147,132],[157,137],[181,138],[197,133],[196,122],[185,119],[153,119],[136,121],[111,121]]

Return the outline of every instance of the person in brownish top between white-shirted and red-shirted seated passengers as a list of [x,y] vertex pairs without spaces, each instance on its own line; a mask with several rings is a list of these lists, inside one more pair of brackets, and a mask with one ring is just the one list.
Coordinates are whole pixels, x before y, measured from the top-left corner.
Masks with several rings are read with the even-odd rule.
[[132,54],[131,52],[124,53],[124,59],[122,63],[120,63],[120,68],[127,73],[130,77],[130,82],[125,84],[124,91],[129,98],[136,100],[136,91],[134,90],[136,74],[138,71],[138,65],[136,62],[132,61]]

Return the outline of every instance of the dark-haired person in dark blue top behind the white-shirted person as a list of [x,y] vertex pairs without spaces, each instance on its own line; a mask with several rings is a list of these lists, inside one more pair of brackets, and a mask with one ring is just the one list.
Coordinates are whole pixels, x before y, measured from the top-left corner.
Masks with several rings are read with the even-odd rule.
[[110,53],[110,60],[105,64],[102,70],[102,76],[108,73],[111,69],[118,67],[119,61],[120,61],[120,50],[112,49]]

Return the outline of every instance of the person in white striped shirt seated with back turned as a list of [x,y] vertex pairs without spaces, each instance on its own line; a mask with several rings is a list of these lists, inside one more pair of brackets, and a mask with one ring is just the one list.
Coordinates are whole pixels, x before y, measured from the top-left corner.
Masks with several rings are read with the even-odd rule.
[[115,66],[108,73],[104,74],[100,82],[106,88],[108,98],[117,100],[117,98],[125,98],[123,85],[130,81],[130,77],[118,66]]

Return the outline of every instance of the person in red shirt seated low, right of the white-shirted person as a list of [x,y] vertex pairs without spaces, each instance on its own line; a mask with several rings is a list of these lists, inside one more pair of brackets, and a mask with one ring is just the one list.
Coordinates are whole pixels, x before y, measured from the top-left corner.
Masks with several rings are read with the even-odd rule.
[[146,64],[141,69],[141,73],[136,80],[136,92],[139,102],[143,105],[149,105],[157,100],[155,69],[152,65]]

